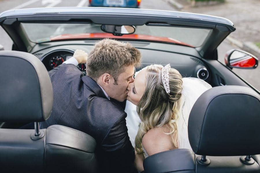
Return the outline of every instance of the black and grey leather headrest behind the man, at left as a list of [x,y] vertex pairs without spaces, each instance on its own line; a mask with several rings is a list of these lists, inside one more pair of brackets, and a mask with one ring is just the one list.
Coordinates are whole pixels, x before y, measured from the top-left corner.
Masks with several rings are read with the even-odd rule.
[[0,122],[47,120],[53,105],[49,74],[34,55],[0,51]]

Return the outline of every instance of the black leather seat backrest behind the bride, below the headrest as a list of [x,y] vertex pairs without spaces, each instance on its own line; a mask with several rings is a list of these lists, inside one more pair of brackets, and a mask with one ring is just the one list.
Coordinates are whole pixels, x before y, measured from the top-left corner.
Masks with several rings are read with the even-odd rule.
[[257,162],[252,165],[240,161],[240,156],[207,156],[209,165],[202,165],[197,161],[196,155],[188,149],[175,149],[157,153],[144,159],[144,172],[147,173],[244,173],[259,172],[260,155],[252,158]]

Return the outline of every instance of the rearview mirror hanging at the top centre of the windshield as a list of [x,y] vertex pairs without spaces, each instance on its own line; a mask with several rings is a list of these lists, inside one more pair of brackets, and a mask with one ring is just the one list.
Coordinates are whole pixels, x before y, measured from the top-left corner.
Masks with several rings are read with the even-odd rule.
[[116,36],[122,36],[124,34],[132,34],[135,32],[134,26],[129,25],[122,25],[122,26],[116,26],[116,25],[101,25],[101,30],[107,33],[112,33]]

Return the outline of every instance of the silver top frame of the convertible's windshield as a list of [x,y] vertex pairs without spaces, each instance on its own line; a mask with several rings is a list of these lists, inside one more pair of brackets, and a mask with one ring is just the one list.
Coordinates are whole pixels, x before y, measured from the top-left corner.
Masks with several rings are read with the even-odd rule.
[[[53,14],[48,16],[55,17],[55,14],[65,15],[67,16],[77,16],[73,14],[84,15],[84,14],[98,14],[98,15],[122,15],[122,16],[154,16],[154,17],[166,17],[166,18],[175,18],[175,19],[183,19],[183,20],[193,20],[198,23],[205,22],[215,22],[221,23],[225,25],[234,27],[234,24],[222,17],[217,16],[209,16],[204,14],[195,14],[195,13],[187,13],[187,12],[174,12],[174,11],[165,11],[165,10],[148,10],[148,9],[121,9],[121,8],[101,8],[101,7],[53,7],[53,8],[31,8],[31,9],[18,9],[18,10],[8,10],[2,12],[0,14],[0,22],[4,20],[6,17],[11,16],[24,16],[29,17],[27,15],[33,15],[37,17],[37,14],[41,14],[40,16],[44,17],[44,14]],[[68,15],[71,14],[71,15]],[[39,17],[40,17],[39,16]],[[200,21],[200,22],[199,22]]]

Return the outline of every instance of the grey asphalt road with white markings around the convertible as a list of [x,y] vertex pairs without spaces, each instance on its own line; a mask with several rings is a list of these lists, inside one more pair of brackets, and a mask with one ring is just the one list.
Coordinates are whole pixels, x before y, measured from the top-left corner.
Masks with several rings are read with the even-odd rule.
[[[87,7],[88,0],[0,0],[0,13],[11,9],[20,8],[37,8],[37,7]],[[166,0],[142,0],[140,8],[144,9],[155,9],[155,10],[171,10],[177,11],[174,7],[167,3]],[[5,31],[0,28],[1,40],[0,44],[4,46],[5,50],[12,49],[12,40],[5,33]],[[230,45],[226,41],[218,47],[218,59],[220,62],[224,63],[224,55],[226,51],[236,48]],[[260,90],[260,80],[259,72],[260,68],[257,69],[233,69],[239,76],[247,80],[250,84],[255,86]]]

